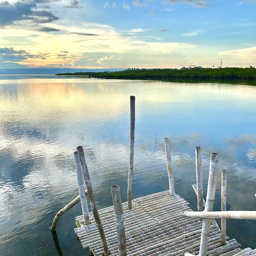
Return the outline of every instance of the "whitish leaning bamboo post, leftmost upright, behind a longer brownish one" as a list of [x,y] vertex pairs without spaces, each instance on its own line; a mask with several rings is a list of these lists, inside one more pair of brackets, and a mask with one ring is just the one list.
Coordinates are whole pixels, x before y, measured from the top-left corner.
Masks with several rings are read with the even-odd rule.
[[77,151],[74,152],[74,158],[75,158],[75,165],[76,165],[76,178],[77,178],[77,184],[78,184],[78,191],[81,198],[81,206],[82,206],[82,212],[84,216],[84,224],[88,225],[90,224],[89,210],[87,205],[86,194],[84,192],[84,178],[83,178]]

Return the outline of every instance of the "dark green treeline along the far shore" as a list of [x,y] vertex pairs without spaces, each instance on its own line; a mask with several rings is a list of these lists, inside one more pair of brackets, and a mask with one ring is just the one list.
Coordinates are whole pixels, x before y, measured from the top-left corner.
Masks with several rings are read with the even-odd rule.
[[123,71],[76,72],[56,75],[89,76],[95,78],[240,78],[256,80],[256,68],[191,68],[146,69],[128,68]]

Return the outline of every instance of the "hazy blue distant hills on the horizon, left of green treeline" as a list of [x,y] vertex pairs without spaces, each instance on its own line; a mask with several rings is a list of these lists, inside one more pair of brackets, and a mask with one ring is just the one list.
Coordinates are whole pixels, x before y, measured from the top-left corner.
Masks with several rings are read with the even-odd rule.
[[54,75],[57,73],[119,71],[125,68],[85,69],[85,68],[1,68],[0,75]]

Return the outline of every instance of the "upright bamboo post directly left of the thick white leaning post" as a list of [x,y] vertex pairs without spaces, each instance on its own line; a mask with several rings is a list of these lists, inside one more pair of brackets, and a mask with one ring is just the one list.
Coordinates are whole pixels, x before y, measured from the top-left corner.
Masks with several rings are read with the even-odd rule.
[[202,176],[202,147],[196,146],[196,187],[197,187],[197,209],[199,212],[204,210],[203,203],[203,176]]

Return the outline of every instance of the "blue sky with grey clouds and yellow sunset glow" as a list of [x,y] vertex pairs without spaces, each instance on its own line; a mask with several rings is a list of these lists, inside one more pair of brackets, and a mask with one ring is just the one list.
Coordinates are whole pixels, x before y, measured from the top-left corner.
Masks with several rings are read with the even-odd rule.
[[256,0],[0,2],[0,68],[256,66]]

